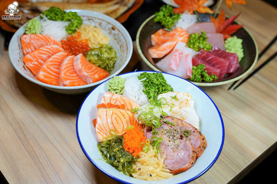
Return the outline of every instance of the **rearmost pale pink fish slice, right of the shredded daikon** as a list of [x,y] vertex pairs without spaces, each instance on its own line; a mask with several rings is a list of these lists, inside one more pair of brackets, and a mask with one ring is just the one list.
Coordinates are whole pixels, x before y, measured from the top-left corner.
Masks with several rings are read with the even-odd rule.
[[201,22],[189,26],[186,30],[189,34],[201,33],[202,30],[206,33],[215,33],[215,25],[211,22]]

